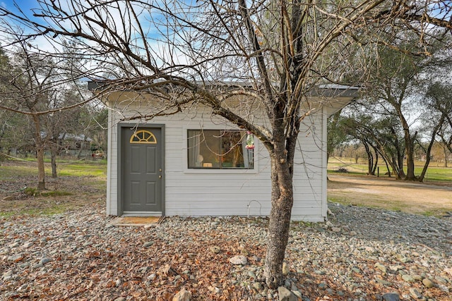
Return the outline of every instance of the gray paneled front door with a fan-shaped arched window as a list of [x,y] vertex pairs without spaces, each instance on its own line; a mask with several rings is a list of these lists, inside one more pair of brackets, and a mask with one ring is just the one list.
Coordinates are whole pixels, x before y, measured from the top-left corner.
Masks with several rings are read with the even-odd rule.
[[121,128],[122,204],[127,213],[161,213],[162,128]]

